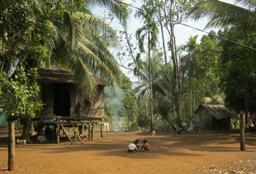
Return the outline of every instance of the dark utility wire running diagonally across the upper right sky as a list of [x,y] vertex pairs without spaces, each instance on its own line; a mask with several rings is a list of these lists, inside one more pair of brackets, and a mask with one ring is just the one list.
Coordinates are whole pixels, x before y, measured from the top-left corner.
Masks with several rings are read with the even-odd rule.
[[[142,10],[142,11],[144,11],[144,12],[146,12],[146,13],[150,13],[150,14],[156,16],[156,17],[162,17],[162,18],[167,19],[167,18],[164,17],[164,16],[161,16],[161,15],[158,15],[158,14],[154,14],[154,13],[152,13],[152,12],[150,12],[150,11],[146,11],[146,10],[144,10],[144,9],[142,9],[142,8],[135,7],[135,6],[133,6],[133,5],[130,5],[130,4],[127,4],[127,3],[124,3],[124,2],[118,1],[118,0],[114,0],[114,1],[115,1],[115,2],[118,2],[118,3],[121,3],[121,4],[124,4],[124,5],[126,5],[126,6],[133,7],[133,8],[138,9],[138,10]],[[172,20],[172,19],[169,19],[169,20]],[[195,27],[191,27],[191,26],[186,25],[186,24],[182,24],[182,23],[180,23],[180,22],[178,22],[178,21],[176,21],[176,20],[172,20],[172,21],[175,22],[175,23],[177,23],[177,24],[183,25],[183,26],[185,26],[185,27],[189,27],[189,28],[191,28],[191,29],[195,29],[195,30],[201,31],[201,32],[210,34],[210,35],[212,35],[212,36],[216,36],[216,37],[219,37],[219,38],[221,38],[221,39],[231,41],[231,42],[233,42],[234,44],[238,44],[238,45],[247,47],[247,48],[249,48],[249,49],[256,50],[255,48],[252,48],[252,47],[250,47],[250,46],[241,44],[241,43],[239,43],[239,42],[236,42],[236,41],[233,41],[233,40],[230,40],[230,39],[227,39],[227,38],[225,38],[225,37],[221,37],[221,36],[218,36],[218,35],[215,35],[215,34],[212,34],[212,33],[206,32],[206,31],[203,31],[203,30],[198,29],[198,28],[195,28]]]

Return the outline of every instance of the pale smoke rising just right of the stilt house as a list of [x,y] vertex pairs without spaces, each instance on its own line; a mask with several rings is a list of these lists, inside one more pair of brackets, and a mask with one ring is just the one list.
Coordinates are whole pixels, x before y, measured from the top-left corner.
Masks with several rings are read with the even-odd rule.
[[122,132],[124,127],[124,118],[122,116],[124,92],[118,86],[115,91],[110,87],[106,87],[104,92],[105,108],[106,112],[111,115],[114,132]]

